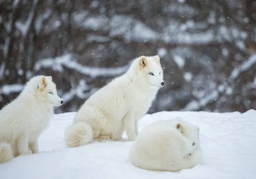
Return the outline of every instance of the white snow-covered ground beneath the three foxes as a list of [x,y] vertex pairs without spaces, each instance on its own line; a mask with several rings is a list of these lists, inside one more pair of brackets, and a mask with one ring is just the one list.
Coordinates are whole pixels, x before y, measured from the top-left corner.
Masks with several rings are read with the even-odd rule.
[[0,164],[0,179],[256,179],[256,111],[246,113],[159,112],[145,115],[139,130],[180,116],[200,127],[204,162],[179,172],[149,171],[127,162],[132,141],[64,144],[75,113],[55,115],[39,140],[40,153]]

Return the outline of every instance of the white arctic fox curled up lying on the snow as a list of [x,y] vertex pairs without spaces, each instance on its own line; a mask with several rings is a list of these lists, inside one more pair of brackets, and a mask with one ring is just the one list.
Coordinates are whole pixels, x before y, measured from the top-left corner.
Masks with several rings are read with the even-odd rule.
[[157,121],[134,141],[128,160],[147,170],[179,171],[201,162],[199,127],[185,121]]

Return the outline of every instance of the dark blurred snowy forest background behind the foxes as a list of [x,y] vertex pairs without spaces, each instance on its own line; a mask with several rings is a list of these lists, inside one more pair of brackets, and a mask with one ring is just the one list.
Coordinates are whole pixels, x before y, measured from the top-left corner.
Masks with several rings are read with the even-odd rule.
[[256,0],[0,1],[0,108],[51,75],[76,111],[141,55],[166,80],[149,113],[256,109]]

